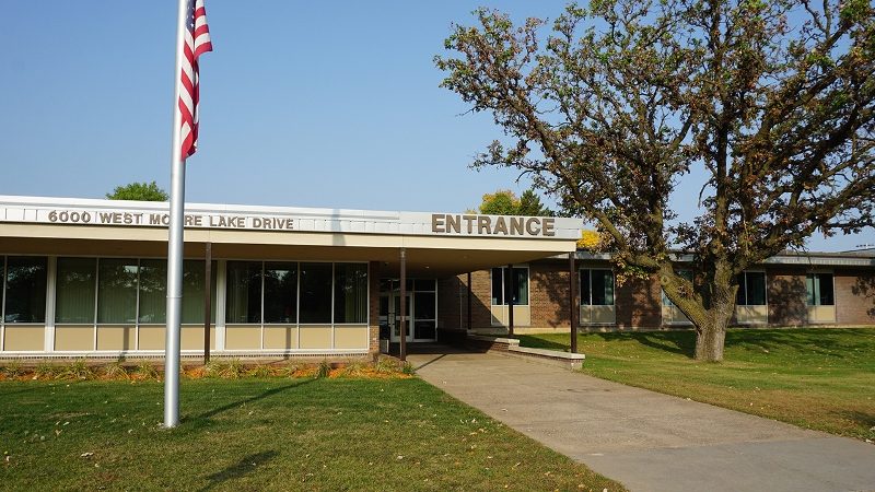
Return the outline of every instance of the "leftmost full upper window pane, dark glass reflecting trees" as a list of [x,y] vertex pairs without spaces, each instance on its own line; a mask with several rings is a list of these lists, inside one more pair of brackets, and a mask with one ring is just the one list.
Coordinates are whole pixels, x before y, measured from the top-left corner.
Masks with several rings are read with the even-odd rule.
[[10,256],[7,263],[7,311],[3,319],[7,323],[45,323],[48,259]]

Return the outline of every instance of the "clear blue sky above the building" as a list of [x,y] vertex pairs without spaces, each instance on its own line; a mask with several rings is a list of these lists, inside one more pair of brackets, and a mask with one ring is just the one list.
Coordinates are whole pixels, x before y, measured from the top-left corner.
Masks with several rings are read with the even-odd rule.
[[[509,169],[475,172],[500,128],[462,115],[435,55],[477,0],[206,0],[200,140],[186,201],[464,212]],[[490,7],[555,19],[564,0]],[[0,195],[104,198],[170,191],[176,0],[0,0]],[[678,208],[695,210],[699,185]],[[681,214],[681,218],[684,215]],[[875,231],[813,250],[875,243]]]

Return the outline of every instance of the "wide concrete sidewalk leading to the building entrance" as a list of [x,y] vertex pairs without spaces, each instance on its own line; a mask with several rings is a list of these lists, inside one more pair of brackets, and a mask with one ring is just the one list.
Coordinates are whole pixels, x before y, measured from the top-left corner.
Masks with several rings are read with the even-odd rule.
[[875,445],[493,353],[422,379],[633,492],[875,491]]

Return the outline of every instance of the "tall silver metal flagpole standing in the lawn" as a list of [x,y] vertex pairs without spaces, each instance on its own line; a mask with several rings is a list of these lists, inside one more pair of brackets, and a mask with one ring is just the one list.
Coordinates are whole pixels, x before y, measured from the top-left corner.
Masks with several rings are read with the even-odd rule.
[[173,72],[173,150],[171,151],[171,214],[167,231],[167,328],[164,343],[164,429],[179,424],[179,330],[183,306],[183,220],[185,160],[182,157],[179,73],[183,71],[188,1],[179,0],[176,19],[176,69]]

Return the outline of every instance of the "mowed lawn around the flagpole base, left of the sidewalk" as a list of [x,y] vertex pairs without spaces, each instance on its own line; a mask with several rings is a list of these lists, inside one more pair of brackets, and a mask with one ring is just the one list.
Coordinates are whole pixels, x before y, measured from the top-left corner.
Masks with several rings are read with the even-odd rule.
[[0,383],[0,489],[618,491],[418,378]]

